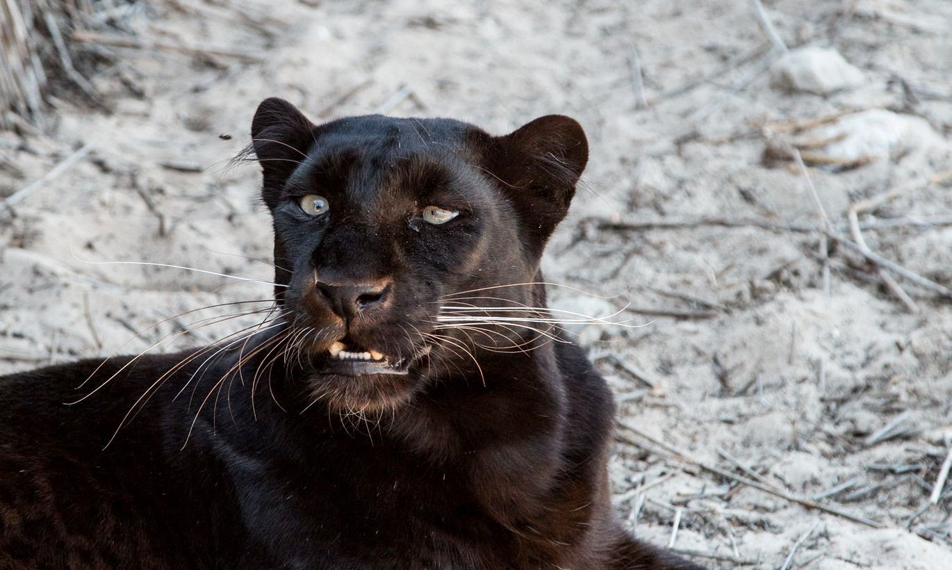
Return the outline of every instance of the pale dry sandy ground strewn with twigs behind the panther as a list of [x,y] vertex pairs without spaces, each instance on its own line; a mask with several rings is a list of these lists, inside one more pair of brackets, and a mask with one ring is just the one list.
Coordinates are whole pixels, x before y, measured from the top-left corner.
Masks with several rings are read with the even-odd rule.
[[[860,212],[866,245],[952,287],[952,193],[925,182],[952,167],[952,4],[764,1],[787,46],[837,49],[862,82],[774,85],[779,51],[742,0],[121,6],[139,38],[224,52],[89,44],[112,62],[87,70],[109,108],[65,89],[47,135],[0,133],[0,199],[89,146],[0,212],[0,372],[238,327],[195,329],[228,312],[209,309],[129,341],[268,285],[85,262],[267,281],[240,257],[270,254],[257,168],[228,167],[266,96],[497,133],[561,112],[591,160],[545,268],[593,295],[553,287],[554,303],[644,324],[576,329],[633,428],[611,461],[619,516],[712,567],[952,567],[952,490],[929,501],[952,437],[952,306],[823,241],[807,184],[839,236],[851,204],[901,190]],[[829,510],[791,500],[818,496]]]

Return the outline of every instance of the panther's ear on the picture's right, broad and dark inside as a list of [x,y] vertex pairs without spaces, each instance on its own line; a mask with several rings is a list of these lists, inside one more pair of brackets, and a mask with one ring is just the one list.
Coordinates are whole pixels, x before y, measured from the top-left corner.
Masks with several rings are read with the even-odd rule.
[[585,130],[565,115],[545,115],[495,142],[486,166],[503,181],[526,230],[543,246],[565,218],[588,162]]

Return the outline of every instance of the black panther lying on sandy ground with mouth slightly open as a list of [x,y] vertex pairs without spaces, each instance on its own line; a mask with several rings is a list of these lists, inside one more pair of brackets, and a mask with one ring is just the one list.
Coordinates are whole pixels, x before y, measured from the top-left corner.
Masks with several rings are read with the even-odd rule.
[[[0,566],[697,567],[613,521],[614,409],[580,348],[516,322],[437,328],[463,299],[520,318],[545,305],[542,285],[514,284],[543,281],[587,160],[578,123],[315,126],[268,99],[251,151],[274,326],[197,358],[0,379]],[[327,214],[302,211],[307,194]],[[426,206],[460,214],[434,226]],[[461,293],[497,285],[513,286]],[[342,372],[335,342],[379,350],[393,373]]]

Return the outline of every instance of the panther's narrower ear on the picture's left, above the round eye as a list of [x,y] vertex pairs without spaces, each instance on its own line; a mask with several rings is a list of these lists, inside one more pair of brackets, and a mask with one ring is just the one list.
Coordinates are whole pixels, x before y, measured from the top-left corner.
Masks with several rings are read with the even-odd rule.
[[291,172],[307,158],[314,144],[315,125],[284,99],[269,97],[261,102],[251,121],[251,147],[264,173],[264,197],[284,187]]

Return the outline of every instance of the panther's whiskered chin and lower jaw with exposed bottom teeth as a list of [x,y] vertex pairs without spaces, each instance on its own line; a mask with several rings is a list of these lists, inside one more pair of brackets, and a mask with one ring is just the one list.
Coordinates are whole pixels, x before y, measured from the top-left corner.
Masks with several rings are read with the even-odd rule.
[[313,394],[343,415],[366,416],[396,409],[409,402],[420,387],[420,375],[413,364],[426,353],[428,349],[413,357],[398,357],[352,344],[331,344],[314,363]]

